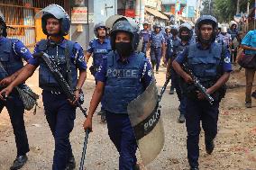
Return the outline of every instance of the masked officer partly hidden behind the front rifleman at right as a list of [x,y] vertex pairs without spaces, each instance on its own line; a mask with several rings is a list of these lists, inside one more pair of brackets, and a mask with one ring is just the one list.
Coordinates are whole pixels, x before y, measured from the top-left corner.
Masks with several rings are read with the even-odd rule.
[[171,76],[171,84],[176,89],[176,92],[178,94],[178,100],[180,102],[178,110],[179,110],[179,117],[178,122],[184,123],[185,122],[185,112],[186,112],[186,99],[184,95],[184,89],[182,89],[182,82],[180,80],[180,76],[176,73],[176,71],[171,67],[172,61],[184,50],[187,48],[187,46],[190,44],[189,40],[191,40],[191,37],[193,35],[192,27],[189,23],[185,22],[182,23],[179,26],[178,29],[178,37],[180,40],[178,40],[178,43],[176,43],[173,46],[173,53],[170,54],[169,63],[167,67],[167,76]]

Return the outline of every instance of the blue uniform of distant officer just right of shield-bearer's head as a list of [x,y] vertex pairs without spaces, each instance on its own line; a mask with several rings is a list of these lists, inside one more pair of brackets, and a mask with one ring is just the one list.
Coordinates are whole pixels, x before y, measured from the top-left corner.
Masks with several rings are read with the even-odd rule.
[[161,32],[156,33],[153,31],[150,37],[151,41],[151,63],[154,67],[156,64],[156,70],[159,70],[160,67],[160,58],[161,58],[161,50],[162,44],[165,43],[164,36]]

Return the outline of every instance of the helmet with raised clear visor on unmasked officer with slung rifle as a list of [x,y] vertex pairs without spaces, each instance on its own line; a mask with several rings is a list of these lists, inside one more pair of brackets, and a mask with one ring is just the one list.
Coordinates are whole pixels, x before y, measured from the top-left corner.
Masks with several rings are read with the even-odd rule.
[[70,18],[69,14],[59,4],[50,4],[36,14],[36,18],[41,16],[41,28],[45,35],[49,35],[46,30],[46,22],[49,18],[56,18],[60,22],[59,35],[65,36],[69,34]]

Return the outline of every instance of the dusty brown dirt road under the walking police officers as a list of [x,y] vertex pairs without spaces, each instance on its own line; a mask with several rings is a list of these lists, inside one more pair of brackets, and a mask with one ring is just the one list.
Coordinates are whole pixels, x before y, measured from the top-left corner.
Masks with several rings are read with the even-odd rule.
[[[237,68],[236,68],[237,69]],[[156,75],[159,88],[164,84],[165,68],[160,68]],[[235,71],[230,79],[226,97],[221,103],[219,116],[219,132],[215,139],[215,151],[207,155],[204,146],[204,135],[200,139],[200,169],[210,170],[256,170],[256,101],[252,100],[251,109],[244,108],[244,71]],[[28,85],[38,93],[37,74],[29,79]],[[90,74],[85,85],[86,103],[88,107],[94,90],[94,79]],[[235,87],[235,88],[234,88]],[[256,88],[255,86],[253,87]],[[51,167],[54,141],[50,129],[44,118],[42,104],[36,115],[26,112],[25,124],[28,133],[31,151],[29,161],[23,170],[48,170]],[[179,170],[188,169],[186,149],[186,127],[179,124],[177,95],[170,95],[169,88],[162,101],[162,118],[165,129],[165,146],[159,157],[148,170]],[[71,133],[71,142],[77,165],[81,156],[84,132],[82,122],[84,117],[78,111],[75,128]],[[118,169],[118,155],[107,135],[105,123],[100,122],[99,116],[94,117],[94,132],[89,135],[85,165],[87,170]],[[0,170],[7,170],[14,161],[16,148],[13,129],[9,116],[4,110],[0,114]],[[139,156],[139,153],[138,153]],[[77,168],[78,169],[78,168]]]

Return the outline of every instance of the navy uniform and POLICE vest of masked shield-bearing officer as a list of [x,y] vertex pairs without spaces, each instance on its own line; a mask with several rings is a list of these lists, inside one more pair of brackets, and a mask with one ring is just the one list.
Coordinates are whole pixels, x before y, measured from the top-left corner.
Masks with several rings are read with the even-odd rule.
[[127,105],[151,83],[151,65],[143,53],[133,53],[122,61],[116,52],[104,58],[96,80],[105,84],[108,135],[119,152],[119,170],[133,170],[137,144],[127,113]]

